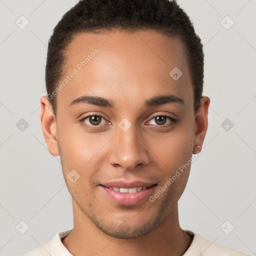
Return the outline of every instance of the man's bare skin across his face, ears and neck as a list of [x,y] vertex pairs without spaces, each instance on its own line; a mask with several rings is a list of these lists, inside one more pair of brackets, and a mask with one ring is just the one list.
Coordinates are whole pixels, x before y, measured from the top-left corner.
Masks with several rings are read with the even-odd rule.
[[[62,243],[73,255],[181,255],[192,241],[179,225],[177,206],[190,166],[154,202],[119,205],[99,184],[149,181],[157,183],[155,193],[200,151],[210,99],[202,97],[194,114],[187,57],[178,38],[154,30],[79,33],[68,46],[65,75],[94,48],[99,50],[95,57],[57,93],[56,117],[47,97],[40,99],[43,135],[49,152],[60,155],[72,196],[74,226]],[[183,73],[176,81],[169,75],[175,66]],[[143,107],[146,99],[167,93],[184,105]],[[82,95],[104,97],[115,108],[69,105]],[[104,117],[94,130],[82,125],[93,126],[89,118],[79,121],[93,114]],[[154,118],[158,115],[176,122],[167,118],[170,125],[163,127]],[[118,126],[123,118],[131,124],[126,131]],[[74,183],[67,178],[72,169],[80,175]]]

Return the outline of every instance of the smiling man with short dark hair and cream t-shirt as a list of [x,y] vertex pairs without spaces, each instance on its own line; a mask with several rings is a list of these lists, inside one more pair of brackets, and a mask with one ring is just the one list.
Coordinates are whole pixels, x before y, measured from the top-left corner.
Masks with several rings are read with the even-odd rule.
[[179,225],[210,99],[201,41],[175,1],[79,1],[53,30],[45,81],[42,132],[74,226],[25,256],[245,255]]

